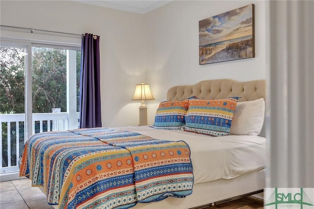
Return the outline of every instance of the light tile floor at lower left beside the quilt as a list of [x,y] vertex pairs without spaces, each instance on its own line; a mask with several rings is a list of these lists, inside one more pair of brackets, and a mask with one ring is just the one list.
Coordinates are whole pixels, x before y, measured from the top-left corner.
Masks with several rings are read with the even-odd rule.
[[0,182],[0,209],[53,209],[45,194],[23,178]]

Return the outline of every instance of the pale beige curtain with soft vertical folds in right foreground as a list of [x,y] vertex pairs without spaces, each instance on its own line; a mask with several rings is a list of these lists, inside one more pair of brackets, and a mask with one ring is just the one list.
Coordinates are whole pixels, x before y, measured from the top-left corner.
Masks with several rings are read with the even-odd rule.
[[266,187],[314,187],[314,1],[268,9]]

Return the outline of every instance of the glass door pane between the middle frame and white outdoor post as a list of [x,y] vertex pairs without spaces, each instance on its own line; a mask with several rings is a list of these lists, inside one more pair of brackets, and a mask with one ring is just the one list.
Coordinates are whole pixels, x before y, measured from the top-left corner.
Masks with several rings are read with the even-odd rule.
[[33,133],[66,129],[66,114],[63,121],[52,120],[52,114],[40,114],[67,112],[66,90],[66,50],[32,47]]

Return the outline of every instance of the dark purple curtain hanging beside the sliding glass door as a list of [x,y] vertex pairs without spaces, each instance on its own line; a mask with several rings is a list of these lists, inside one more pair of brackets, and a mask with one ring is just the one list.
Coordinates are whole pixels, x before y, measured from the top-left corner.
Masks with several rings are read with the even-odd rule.
[[102,126],[99,36],[87,33],[81,46],[79,114],[79,128]]

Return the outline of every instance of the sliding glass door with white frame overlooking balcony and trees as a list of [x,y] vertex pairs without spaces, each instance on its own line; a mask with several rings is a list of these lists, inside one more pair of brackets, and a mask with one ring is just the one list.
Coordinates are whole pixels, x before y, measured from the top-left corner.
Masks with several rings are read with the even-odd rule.
[[0,47],[0,174],[19,171],[28,136],[78,128],[80,49]]

